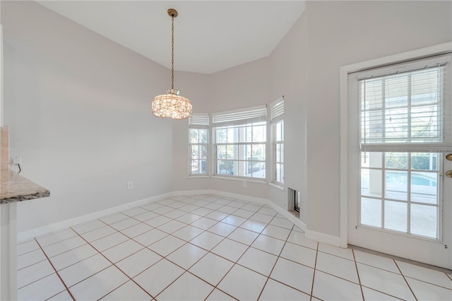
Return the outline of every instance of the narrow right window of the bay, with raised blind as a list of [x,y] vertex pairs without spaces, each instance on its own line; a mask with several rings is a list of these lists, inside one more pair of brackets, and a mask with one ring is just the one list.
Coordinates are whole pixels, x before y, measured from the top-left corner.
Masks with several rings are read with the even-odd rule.
[[284,183],[284,98],[276,100],[270,109],[273,138],[273,182]]

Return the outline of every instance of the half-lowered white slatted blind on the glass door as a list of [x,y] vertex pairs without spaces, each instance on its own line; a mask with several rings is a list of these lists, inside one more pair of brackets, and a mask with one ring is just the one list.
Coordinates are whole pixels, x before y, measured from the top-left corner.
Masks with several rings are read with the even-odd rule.
[[451,56],[358,73],[362,151],[452,146]]

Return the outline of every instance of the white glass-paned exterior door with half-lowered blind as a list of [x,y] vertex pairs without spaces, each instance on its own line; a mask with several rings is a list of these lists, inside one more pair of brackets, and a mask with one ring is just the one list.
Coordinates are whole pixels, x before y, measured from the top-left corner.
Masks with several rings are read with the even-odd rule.
[[450,65],[349,75],[349,244],[452,268]]

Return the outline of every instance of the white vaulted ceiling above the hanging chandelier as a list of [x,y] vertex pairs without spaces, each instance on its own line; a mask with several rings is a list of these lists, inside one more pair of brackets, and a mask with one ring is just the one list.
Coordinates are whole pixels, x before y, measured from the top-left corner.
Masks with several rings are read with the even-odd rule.
[[304,1],[37,1],[167,68],[214,73],[267,57]]

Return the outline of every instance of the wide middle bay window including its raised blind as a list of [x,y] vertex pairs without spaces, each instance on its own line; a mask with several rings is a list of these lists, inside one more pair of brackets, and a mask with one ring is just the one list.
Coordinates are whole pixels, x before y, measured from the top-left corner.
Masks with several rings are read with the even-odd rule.
[[266,179],[266,106],[213,114],[215,175]]

